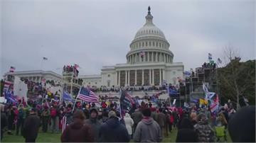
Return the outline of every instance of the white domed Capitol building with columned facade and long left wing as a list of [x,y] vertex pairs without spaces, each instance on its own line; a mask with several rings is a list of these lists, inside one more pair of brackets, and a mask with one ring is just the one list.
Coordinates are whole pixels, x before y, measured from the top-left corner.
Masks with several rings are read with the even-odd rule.
[[79,86],[161,86],[163,83],[178,84],[178,77],[183,78],[182,62],[174,62],[174,53],[164,33],[153,23],[150,7],[146,15],[146,23],[140,28],[127,52],[125,64],[102,67],[101,74],[79,75],[82,84],[68,79],[67,74],[56,74],[53,71],[15,71],[14,76],[20,76],[32,81],[53,79],[62,82],[63,79]]

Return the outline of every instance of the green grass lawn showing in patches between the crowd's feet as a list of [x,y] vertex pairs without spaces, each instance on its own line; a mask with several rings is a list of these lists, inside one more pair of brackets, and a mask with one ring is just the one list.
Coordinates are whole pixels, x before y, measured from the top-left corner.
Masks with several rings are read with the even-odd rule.
[[[14,131],[13,131],[14,133]],[[177,130],[174,128],[168,137],[164,137],[163,142],[175,142],[176,141]],[[231,139],[228,135],[228,142],[231,142]],[[25,139],[21,135],[7,135],[4,134],[4,139],[1,142],[25,142]],[[36,142],[60,142],[60,133],[45,133],[39,132]],[[131,142],[133,142],[131,140]]]

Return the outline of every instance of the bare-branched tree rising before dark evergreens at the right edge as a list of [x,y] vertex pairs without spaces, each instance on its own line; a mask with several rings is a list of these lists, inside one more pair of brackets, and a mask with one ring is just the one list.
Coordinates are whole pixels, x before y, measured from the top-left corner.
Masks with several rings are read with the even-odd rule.
[[255,69],[242,64],[238,51],[230,45],[224,48],[223,54],[225,67],[218,71],[220,88],[223,89],[222,94],[226,94],[225,96],[235,101],[236,107],[240,108],[240,98],[244,96],[245,91],[253,90],[253,82],[255,85],[255,76],[252,76]]

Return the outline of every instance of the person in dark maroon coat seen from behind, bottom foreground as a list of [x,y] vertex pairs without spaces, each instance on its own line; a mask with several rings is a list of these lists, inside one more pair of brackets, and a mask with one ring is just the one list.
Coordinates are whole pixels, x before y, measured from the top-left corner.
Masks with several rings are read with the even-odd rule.
[[61,142],[95,142],[90,125],[84,124],[85,115],[81,110],[75,111],[74,122],[68,125],[60,137]]

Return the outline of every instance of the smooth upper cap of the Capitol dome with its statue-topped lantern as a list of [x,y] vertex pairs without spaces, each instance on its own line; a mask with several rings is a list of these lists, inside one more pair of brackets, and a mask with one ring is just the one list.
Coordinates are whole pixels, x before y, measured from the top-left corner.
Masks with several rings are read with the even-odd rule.
[[153,16],[151,16],[150,8],[149,8],[149,12],[146,16],[146,23],[142,28],[138,30],[138,32],[134,37],[134,40],[137,40],[138,38],[149,37],[149,36],[164,38],[165,40],[164,33],[159,28],[157,28],[156,25],[154,25],[152,20],[153,20]]

